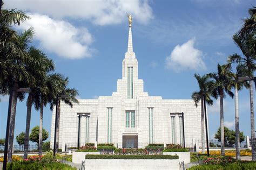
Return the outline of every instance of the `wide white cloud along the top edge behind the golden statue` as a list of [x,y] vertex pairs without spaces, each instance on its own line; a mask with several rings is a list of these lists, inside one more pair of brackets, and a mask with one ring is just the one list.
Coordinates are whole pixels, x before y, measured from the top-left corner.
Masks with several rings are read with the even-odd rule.
[[119,24],[127,18],[126,12],[131,13],[138,23],[145,24],[153,18],[147,0],[10,0],[5,2],[5,6],[42,13],[53,18],[88,19],[96,25]]

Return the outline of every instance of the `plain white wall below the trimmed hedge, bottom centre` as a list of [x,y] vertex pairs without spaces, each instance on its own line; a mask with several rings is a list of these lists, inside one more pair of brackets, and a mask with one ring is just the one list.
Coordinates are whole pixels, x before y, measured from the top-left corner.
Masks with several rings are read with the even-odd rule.
[[179,169],[178,159],[86,159],[85,169]]

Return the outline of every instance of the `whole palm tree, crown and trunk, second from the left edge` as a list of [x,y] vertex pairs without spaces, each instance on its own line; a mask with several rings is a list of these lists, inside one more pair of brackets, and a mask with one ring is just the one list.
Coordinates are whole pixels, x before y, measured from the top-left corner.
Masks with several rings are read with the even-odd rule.
[[[48,72],[53,71],[54,64],[52,60],[48,59],[47,56],[41,52],[39,49],[35,47],[30,47],[29,55],[31,56],[31,61],[29,62],[27,69],[34,77],[36,77],[36,81],[30,83],[31,93],[28,96],[27,100],[27,114],[26,114],[26,130],[25,130],[25,140],[24,140],[24,155],[23,158],[26,159],[28,157],[28,149],[29,149],[29,130],[30,130],[30,119],[31,119],[31,108],[32,104],[38,103],[38,96],[40,86],[40,82],[38,80],[45,79],[45,75]],[[35,65],[35,62],[38,64]],[[38,65],[40,67],[38,67]]]

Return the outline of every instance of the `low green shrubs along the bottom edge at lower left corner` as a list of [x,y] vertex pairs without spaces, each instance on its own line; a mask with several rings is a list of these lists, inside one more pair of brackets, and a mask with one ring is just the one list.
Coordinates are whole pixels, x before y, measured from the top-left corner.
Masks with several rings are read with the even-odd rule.
[[7,164],[7,169],[63,169],[63,170],[75,170],[76,168],[70,165],[62,164],[60,162],[30,162],[30,161],[16,161]]

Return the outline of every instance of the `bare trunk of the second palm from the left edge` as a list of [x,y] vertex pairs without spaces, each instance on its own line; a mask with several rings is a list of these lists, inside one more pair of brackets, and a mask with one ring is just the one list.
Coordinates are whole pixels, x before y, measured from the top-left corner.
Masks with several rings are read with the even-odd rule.
[[29,129],[30,129],[30,119],[31,119],[31,108],[32,108],[32,96],[29,94],[28,105],[26,106],[26,131],[24,139],[24,155],[23,158],[28,158],[29,152]]

